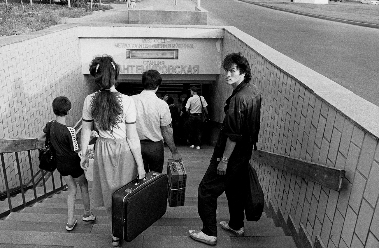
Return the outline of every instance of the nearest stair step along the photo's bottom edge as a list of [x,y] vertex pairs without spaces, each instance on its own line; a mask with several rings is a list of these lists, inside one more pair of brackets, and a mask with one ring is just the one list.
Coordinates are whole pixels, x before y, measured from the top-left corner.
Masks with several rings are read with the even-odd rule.
[[[18,237],[15,239],[14,237]],[[82,248],[108,247],[111,245],[110,234],[92,233],[50,233],[36,231],[0,230],[0,243],[51,245],[64,243],[67,246]],[[121,247],[141,248],[209,248],[186,236],[140,235],[132,242],[122,242]],[[2,246],[3,247],[3,246]],[[296,248],[292,237],[229,237],[220,236],[217,247],[258,247],[258,248]]]

